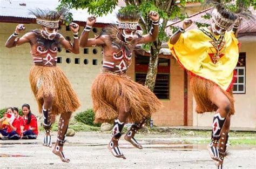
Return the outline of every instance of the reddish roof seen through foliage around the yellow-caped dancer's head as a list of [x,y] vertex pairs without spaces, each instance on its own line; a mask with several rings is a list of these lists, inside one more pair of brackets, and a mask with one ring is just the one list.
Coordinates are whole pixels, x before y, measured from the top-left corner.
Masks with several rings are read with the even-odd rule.
[[[251,10],[253,15],[256,17],[256,12],[255,10]],[[208,23],[211,24],[212,23],[212,19],[204,19],[202,16],[204,16],[206,13],[210,13],[211,12],[211,8],[203,10],[201,12],[195,13],[194,15],[191,15],[189,18],[192,21],[196,21],[199,23]],[[166,33],[167,35],[172,35],[172,30],[170,30],[170,26],[182,26],[183,21],[177,21],[174,22],[170,25],[167,26],[166,28]],[[191,30],[191,29],[197,29],[197,25],[196,24],[192,24],[189,28],[187,28],[187,30]],[[256,23],[255,21],[248,21],[248,22],[242,22],[240,27],[239,27],[239,34],[241,33],[254,33],[256,32]]]

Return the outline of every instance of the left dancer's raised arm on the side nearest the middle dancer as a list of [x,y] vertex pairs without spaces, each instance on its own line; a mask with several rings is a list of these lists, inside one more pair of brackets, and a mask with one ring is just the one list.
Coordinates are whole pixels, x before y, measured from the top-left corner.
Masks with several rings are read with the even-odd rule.
[[65,49],[69,50],[70,52],[78,54],[79,53],[79,41],[78,41],[79,25],[76,23],[71,23],[69,26],[71,31],[73,32],[74,43],[71,44],[68,40],[66,40],[63,36],[61,36],[60,44],[62,44],[62,46]]

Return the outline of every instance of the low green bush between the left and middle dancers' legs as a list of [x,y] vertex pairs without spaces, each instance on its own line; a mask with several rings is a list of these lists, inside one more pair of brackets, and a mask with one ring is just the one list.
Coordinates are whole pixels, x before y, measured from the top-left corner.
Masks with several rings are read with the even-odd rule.
[[99,127],[100,124],[94,124],[93,121],[95,120],[95,113],[92,109],[87,109],[86,111],[79,112],[75,116],[75,119],[78,122],[90,125],[90,126],[97,126]]

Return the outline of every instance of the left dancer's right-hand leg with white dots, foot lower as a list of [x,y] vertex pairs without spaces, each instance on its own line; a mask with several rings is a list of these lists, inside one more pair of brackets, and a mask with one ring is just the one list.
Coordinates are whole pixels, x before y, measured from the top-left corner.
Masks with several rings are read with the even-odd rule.
[[65,143],[66,132],[68,131],[69,120],[71,117],[71,112],[62,113],[59,118],[58,123],[58,135],[56,144],[52,150],[59,158],[66,163],[69,163],[69,159],[64,156],[63,146]]

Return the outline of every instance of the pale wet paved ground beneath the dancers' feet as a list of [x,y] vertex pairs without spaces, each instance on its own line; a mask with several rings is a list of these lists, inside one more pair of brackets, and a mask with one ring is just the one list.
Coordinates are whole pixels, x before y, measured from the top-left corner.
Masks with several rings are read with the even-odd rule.
[[[52,137],[55,140],[56,133]],[[42,146],[42,138],[0,140],[0,168],[216,168],[206,144],[190,144],[189,136],[138,135],[143,150],[122,138],[124,160],[114,158],[107,149],[110,134],[80,132],[67,137],[64,153],[71,160],[68,164],[51,153],[52,148]],[[256,146],[230,146],[229,152],[225,168],[256,168]]]

